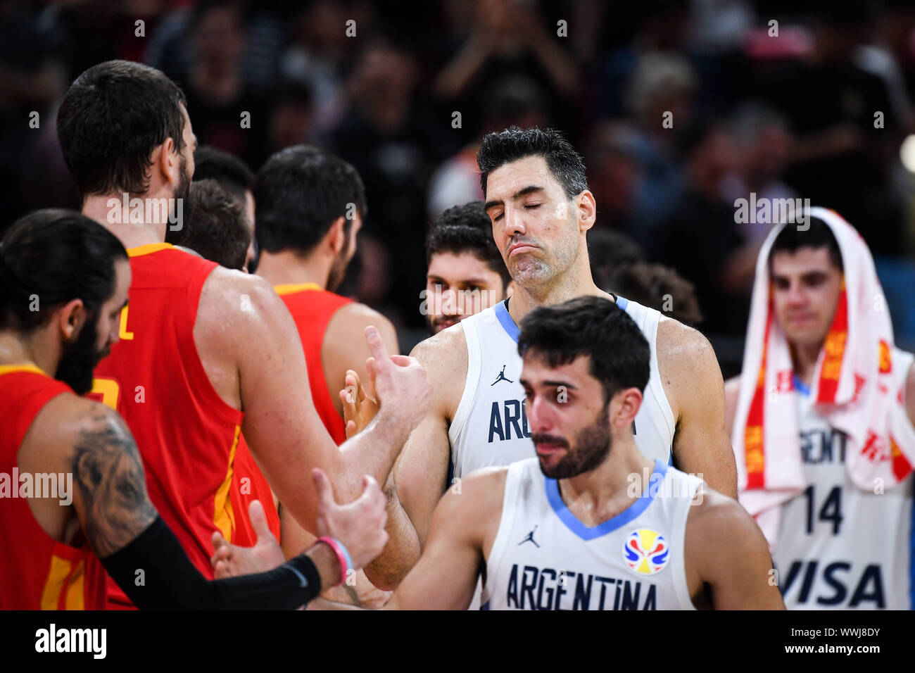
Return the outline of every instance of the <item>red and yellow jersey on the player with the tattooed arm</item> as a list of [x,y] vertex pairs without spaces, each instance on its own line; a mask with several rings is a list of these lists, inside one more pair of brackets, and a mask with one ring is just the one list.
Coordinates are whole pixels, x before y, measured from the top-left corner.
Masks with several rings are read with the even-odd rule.
[[28,429],[51,399],[72,392],[34,365],[0,366],[0,610],[104,608],[102,563],[88,545],[50,537],[20,489],[17,456]]

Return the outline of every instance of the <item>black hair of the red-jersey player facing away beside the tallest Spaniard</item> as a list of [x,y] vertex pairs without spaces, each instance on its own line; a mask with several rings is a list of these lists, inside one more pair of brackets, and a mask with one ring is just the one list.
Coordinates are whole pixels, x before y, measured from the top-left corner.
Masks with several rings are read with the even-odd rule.
[[350,203],[364,218],[365,188],[355,168],[318,147],[286,147],[254,180],[257,243],[268,253],[307,253],[337,218],[349,215]]

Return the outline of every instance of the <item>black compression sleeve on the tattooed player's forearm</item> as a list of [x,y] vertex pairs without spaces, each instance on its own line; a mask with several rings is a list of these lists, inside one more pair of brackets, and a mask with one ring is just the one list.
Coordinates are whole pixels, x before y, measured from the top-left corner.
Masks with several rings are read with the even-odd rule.
[[141,610],[293,610],[321,591],[305,554],[267,572],[207,581],[161,516],[102,566]]

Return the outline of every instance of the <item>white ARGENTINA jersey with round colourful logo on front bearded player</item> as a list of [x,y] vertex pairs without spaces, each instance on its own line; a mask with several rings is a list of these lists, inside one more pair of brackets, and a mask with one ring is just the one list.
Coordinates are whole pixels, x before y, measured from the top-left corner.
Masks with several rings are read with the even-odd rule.
[[512,463],[483,609],[692,610],[686,519],[698,477],[655,461],[643,495],[598,526],[574,516],[538,459]]

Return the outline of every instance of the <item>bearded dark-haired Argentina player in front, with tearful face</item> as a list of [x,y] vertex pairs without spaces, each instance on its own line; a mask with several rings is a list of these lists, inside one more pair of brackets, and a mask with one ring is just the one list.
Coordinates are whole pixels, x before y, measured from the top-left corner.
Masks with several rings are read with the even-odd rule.
[[[639,450],[651,355],[625,311],[599,297],[534,309],[518,348],[536,457],[445,494],[385,609],[464,610],[481,573],[493,610],[783,608],[752,517]],[[281,563],[271,545],[272,559],[246,568],[221,546],[217,577]]]

